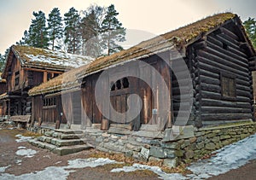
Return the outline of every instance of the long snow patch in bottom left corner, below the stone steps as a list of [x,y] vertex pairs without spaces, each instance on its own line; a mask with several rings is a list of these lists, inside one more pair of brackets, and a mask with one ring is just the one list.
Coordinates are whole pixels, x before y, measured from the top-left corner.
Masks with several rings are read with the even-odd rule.
[[0,179],[15,179],[15,180],[40,180],[40,179],[58,179],[58,180],[66,180],[68,175],[76,168],[84,168],[84,167],[96,167],[100,165],[108,165],[108,164],[115,164],[118,163],[115,160],[109,159],[96,159],[96,158],[89,158],[89,159],[77,159],[77,160],[68,160],[67,166],[49,166],[46,167],[43,171],[35,171],[27,174],[22,174],[20,176],[15,176],[13,174],[3,173],[0,176]]

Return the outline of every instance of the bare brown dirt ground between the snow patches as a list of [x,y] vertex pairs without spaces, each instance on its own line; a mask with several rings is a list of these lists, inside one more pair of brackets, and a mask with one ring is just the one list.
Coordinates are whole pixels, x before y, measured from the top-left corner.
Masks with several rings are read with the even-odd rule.
[[[58,156],[52,154],[46,149],[33,147],[28,142],[15,142],[15,135],[25,133],[24,130],[0,130],[0,167],[9,166],[4,173],[20,176],[21,174],[43,171],[48,166],[64,166],[67,160],[89,158],[95,154],[95,150],[83,151],[77,154]],[[37,151],[32,158],[27,158],[15,154],[19,147],[32,148]],[[21,165],[18,161],[22,160]],[[67,179],[157,179],[158,176],[152,171],[135,171],[135,172],[110,172],[113,165],[102,165],[95,168],[74,169]],[[1,171],[0,171],[1,175]],[[239,169],[231,170],[218,177],[211,177],[211,180],[227,179],[256,179],[256,160]]]

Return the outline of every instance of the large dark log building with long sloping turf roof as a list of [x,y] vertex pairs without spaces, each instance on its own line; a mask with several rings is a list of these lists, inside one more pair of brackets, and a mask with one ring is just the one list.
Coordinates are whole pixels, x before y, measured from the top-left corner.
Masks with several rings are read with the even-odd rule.
[[[213,15],[92,61],[79,68],[75,73],[78,84],[69,86],[68,90],[65,85],[64,90],[61,90],[63,76],[33,88],[29,91],[33,99],[33,118],[47,121],[47,112],[43,111],[44,101],[48,97],[60,96],[62,91],[68,98],[61,100],[59,97],[55,101],[56,107],[60,109],[58,113],[64,113],[66,118],[71,111],[79,114],[75,118],[67,118],[69,124],[78,124],[84,128],[101,124],[103,119],[115,123],[112,119],[119,117],[113,117],[116,114],[112,114],[111,106],[96,105],[96,84],[109,84],[107,89],[102,89],[102,94],[106,90],[110,91],[111,105],[119,113],[128,111],[129,106],[139,107],[139,104],[129,104],[128,97],[131,94],[141,97],[142,109],[139,115],[132,122],[125,120],[129,117],[121,120],[123,124],[130,124],[134,131],[140,130],[143,124],[158,125],[163,130],[183,122],[185,125],[201,127],[253,119],[251,70],[255,67],[254,59],[255,51],[239,17],[231,13]],[[184,61],[185,66],[178,61]],[[170,96],[160,92],[160,84],[155,83],[157,73],[144,66],[144,63],[154,67],[164,79]],[[177,66],[172,67],[173,63]],[[99,80],[106,71],[110,73]],[[126,73],[132,73],[133,76],[122,77]],[[140,77],[140,74],[143,74],[147,83],[135,78]],[[113,81],[113,76],[121,78]],[[60,88],[55,89],[57,86]],[[170,99],[171,106],[166,112],[160,113],[164,107],[160,102],[165,102],[165,99]],[[66,107],[62,109],[57,103],[64,106],[68,104],[69,111],[65,112]],[[109,112],[107,115],[110,118],[102,115],[102,109]],[[178,116],[184,118],[182,122],[177,122]],[[58,119],[57,115],[55,119]]]

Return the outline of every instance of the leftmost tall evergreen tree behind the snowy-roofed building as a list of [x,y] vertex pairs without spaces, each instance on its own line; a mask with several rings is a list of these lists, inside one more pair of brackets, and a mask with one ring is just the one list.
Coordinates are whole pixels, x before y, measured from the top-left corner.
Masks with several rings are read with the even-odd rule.
[[48,48],[49,39],[47,37],[47,30],[45,26],[45,15],[42,11],[33,12],[35,19],[29,27],[28,45],[36,48]]

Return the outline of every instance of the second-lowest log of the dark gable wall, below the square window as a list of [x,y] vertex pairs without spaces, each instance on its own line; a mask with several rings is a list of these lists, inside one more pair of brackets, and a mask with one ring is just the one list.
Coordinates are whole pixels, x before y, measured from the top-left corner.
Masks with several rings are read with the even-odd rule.
[[237,107],[201,107],[202,113],[251,113],[250,108]]

